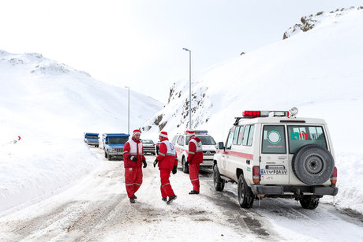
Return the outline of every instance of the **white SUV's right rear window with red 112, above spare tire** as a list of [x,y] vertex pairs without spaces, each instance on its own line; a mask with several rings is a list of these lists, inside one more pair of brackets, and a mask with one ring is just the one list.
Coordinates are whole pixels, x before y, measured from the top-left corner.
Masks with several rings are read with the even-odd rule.
[[323,127],[321,126],[287,126],[287,133],[291,154],[306,144],[318,144],[327,148]]

